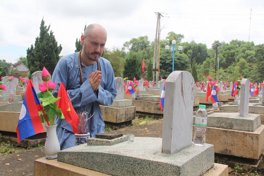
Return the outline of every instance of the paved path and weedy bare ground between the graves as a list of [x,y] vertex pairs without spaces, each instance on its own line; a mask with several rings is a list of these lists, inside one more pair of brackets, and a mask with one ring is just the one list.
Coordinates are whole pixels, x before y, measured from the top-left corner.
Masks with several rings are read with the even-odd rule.
[[[162,137],[162,127],[161,115],[136,113],[135,120],[131,122],[118,125],[106,123],[105,132],[119,134],[134,132],[136,137]],[[43,148],[41,145],[36,148],[22,148],[0,141],[0,176],[33,176],[34,160],[45,157]],[[251,160],[215,154],[215,163],[228,165],[230,176],[264,176],[263,156],[264,152],[260,160]]]

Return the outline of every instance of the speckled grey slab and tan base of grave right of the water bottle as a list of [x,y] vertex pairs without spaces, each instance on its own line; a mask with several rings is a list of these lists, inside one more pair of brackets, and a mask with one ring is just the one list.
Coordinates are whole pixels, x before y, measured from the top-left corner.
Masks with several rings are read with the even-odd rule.
[[264,125],[260,125],[259,114],[239,117],[238,113],[215,112],[208,115],[205,138],[215,153],[259,159],[264,150]]

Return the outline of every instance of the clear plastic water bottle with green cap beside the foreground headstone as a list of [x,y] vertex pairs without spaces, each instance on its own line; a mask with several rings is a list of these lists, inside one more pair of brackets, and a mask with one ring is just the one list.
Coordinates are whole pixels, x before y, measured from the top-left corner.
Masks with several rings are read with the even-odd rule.
[[205,145],[205,131],[207,127],[207,112],[205,105],[199,105],[195,114],[193,144],[196,146]]

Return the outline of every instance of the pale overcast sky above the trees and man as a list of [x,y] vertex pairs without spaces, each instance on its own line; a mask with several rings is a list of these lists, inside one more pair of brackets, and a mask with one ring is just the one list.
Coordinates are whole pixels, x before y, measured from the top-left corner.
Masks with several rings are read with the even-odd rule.
[[207,48],[215,40],[264,43],[263,0],[8,0],[0,2],[0,59],[15,63],[26,57],[27,48],[39,36],[42,18],[62,45],[60,55],[74,52],[76,39],[91,23],[105,27],[109,49],[121,49],[130,39],[145,35],[152,42],[155,12],[164,16],[161,39],[173,31],[184,35],[182,42],[194,40]]

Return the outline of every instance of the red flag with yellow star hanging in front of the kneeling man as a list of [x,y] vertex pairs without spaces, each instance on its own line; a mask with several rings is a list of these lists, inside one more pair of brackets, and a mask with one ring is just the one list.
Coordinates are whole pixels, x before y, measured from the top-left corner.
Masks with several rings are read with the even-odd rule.
[[61,108],[62,114],[65,117],[65,120],[71,124],[72,131],[75,134],[78,134],[77,126],[80,122],[79,116],[75,112],[75,110],[71,104],[71,100],[68,97],[67,91],[66,91],[62,82],[60,82],[57,97],[60,97],[60,99],[57,100],[58,108]]

